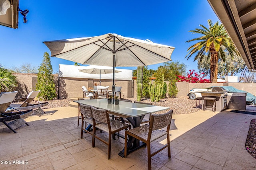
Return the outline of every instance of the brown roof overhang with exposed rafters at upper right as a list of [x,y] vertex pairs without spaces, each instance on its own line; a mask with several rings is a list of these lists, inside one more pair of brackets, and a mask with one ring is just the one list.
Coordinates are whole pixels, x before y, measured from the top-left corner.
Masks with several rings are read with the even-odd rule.
[[249,70],[256,69],[256,0],[208,0]]

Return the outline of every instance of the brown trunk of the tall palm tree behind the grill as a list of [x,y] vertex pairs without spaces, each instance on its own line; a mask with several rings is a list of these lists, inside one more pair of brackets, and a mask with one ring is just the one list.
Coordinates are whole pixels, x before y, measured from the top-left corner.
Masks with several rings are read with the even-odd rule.
[[210,45],[210,53],[211,53],[211,63],[210,63],[210,71],[211,71],[211,83],[217,83],[218,77],[218,52],[215,50],[214,45]]

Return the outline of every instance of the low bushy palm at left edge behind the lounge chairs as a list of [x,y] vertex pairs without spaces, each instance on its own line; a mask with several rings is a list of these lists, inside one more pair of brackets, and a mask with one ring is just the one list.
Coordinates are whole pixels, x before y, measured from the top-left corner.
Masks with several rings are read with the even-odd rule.
[[10,70],[0,67],[0,92],[8,92],[18,87],[16,76]]

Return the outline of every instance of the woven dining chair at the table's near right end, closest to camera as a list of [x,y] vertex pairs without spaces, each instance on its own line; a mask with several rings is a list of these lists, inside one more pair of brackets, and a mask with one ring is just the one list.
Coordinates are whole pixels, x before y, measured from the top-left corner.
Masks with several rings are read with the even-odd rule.
[[[151,170],[151,157],[157,154],[158,152],[162,151],[166,147],[168,148],[168,157],[171,158],[171,149],[170,149],[170,125],[172,121],[172,110],[168,111],[164,114],[152,114],[150,118],[149,125],[143,125],[136,127],[134,129],[130,129],[125,131],[125,139],[124,139],[124,157],[127,156],[127,135],[130,137],[134,137],[139,139],[140,141],[146,143],[148,148],[148,169]],[[167,126],[166,131],[160,130]],[[164,147],[156,150],[155,152],[151,153],[150,150],[150,143],[162,136],[166,135],[167,137],[167,144]]]

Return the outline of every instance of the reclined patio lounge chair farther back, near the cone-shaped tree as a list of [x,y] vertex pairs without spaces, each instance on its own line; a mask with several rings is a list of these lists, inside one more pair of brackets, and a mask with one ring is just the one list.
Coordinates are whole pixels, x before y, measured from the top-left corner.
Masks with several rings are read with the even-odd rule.
[[[26,100],[24,101],[23,104],[21,104],[21,105],[11,104],[10,107],[15,108],[19,111],[33,109],[33,111],[37,115],[45,113],[44,110],[41,107],[46,106],[49,103],[48,102],[41,103],[41,102],[35,101],[34,98],[38,95],[38,93],[40,93],[40,90],[32,91],[28,94],[28,96],[27,96],[27,98],[26,98]],[[32,101],[36,102],[36,104],[31,104],[30,102],[32,102]]]

